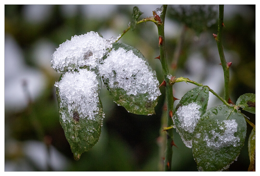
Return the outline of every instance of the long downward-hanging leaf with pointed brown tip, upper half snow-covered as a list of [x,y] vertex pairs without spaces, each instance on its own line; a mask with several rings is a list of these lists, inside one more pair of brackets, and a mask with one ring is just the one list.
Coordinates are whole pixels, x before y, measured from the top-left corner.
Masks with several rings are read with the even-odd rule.
[[104,118],[100,83],[96,73],[86,69],[66,72],[55,83],[60,123],[76,160],[99,140]]

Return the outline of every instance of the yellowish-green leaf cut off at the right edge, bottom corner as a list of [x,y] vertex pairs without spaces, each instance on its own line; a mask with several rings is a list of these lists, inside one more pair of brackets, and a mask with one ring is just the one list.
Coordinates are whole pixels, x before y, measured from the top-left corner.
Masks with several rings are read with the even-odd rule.
[[254,127],[248,138],[248,154],[250,165],[248,171],[256,171],[256,128]]

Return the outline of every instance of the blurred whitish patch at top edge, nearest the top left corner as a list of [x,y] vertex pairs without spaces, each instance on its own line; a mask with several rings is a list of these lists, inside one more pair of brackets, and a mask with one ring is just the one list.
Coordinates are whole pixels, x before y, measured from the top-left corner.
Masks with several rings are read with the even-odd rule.
[[30,23],[42,23],[46,21],[52,11],[53,5],[24,5],[23,16]]

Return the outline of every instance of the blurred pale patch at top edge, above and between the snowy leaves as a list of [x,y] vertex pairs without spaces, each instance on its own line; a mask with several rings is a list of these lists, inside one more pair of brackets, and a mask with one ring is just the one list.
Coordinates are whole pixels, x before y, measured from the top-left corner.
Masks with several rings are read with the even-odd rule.
[[81,5],[83,15],[88,18],[108,18],[116,12],[117,5]]

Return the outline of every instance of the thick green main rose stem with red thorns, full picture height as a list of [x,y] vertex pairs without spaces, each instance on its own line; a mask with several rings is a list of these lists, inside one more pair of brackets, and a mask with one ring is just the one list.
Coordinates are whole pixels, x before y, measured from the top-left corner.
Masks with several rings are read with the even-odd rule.
[[[161,23],[157,24],[158,35],[162,38],[162,44],[160,46],[160,61],[162,65],[162,72],[164,74],[164,79],[166,82],[166,101],[167,101],[167,126],[172,126],[173,121],[172,117],[170,117],[170,111],[173,110],[173,93],[172,93],[172,85],[170,85],[170,80],[167,79],[167,75],[169,74],[169,69],[166,61],[166,51],[165,51],[165,38],[164,38],[164,19],[166,13],[167,5],[163,5],[163,9],[161,12]],[[164,160],[164,170],[171,171],[172,165],[172,141],[173,141],[173,129],[168,129],[167,131],[167,139],[166,139],[166,151],[165,151],[165,160]]]

